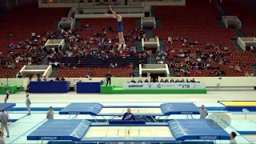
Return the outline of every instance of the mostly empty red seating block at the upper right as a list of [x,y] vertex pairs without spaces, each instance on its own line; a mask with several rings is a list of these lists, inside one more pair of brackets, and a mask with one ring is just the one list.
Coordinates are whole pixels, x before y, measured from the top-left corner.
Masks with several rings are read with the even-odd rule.
[[[200,9],[198,9],[198,5]],[[190,45],[183,46],[180,41],[174,42],[172,49],[175,52],[173,55],[177,55],[181,49],[191,50],[191,53],[200,50],[205,54],[210,54],[210,52],[215,54],[216,50],[205,49],[206,44],[214,44],[221,47],[227,46],[231,55],[224,56],[224,58],[232,62],[221,66],[221,70],[226,70],[225,76],[244,76],[246,71],[252,72],[250,67],[243,68],[243,65],[255,64],[254,54],[249,51],[238,51],[230,42],[230,39],[235,38],[236,35],[230,29],[219,26],[216,18],[221,17],[221,15],[214,3],[211,4],[209,1],[199,0],[199,2],[186,1],[186,6],[154,6],[154,14],[156,18],[161,19],[161,29],[154,30],[154,36],[162,39],[166,39],[169,36],[171,38],[188,38],[188,42],[199,42],[198,46],[193,47]],[[168,48],[167,43],[166,48]],[[185,58],[178,59],[185,62]],[[193,60],[193,58],[190,60]],[[235,64],[240,66],[242,72],[229,69],[229,66]],[[218,62],[210,63],[210,65],[218,66]],[[201,70],[201,72],[202,74],[197,76],[210,76],[210,70]],[[177,75],[177,73],[175,74]]]

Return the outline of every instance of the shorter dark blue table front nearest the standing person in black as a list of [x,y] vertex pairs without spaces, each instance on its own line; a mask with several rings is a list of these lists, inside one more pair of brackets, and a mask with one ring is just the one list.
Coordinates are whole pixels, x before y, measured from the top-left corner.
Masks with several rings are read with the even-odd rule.
[[100,93],[101,82],[77,82],[77,93]]

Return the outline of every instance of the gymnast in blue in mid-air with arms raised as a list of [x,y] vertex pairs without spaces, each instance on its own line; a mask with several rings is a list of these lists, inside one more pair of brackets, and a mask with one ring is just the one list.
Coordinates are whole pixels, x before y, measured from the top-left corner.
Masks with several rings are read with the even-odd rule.
[[106,14],[109,17],[116,18],[118,20],[118,50],[125,50],[126,49],[126,41],[125,38],[123,38],[123,27],[122,27],[122,16],[118,13],[115,13],[114,10],[112,10],[110,6],[110,10],[112,14]]

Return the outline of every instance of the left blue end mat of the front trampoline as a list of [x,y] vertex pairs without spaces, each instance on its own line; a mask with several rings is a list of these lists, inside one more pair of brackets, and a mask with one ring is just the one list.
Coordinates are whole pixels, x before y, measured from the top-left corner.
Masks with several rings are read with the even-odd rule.
[[52,119],[27,136],[27,140],[80,141],[90,127],[90,121],[81,119]]

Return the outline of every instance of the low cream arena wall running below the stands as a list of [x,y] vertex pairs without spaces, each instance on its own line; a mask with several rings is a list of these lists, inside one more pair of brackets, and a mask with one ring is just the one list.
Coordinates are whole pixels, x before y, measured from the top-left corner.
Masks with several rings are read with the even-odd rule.
[[[166,79],[170,81],[170,79],[181,80],[182,77],[162,77],[158,78]],[[207,90],[254,90],[256,86],[256,77],[184,77],[186,80],[194,78],[196,82],[205,82]],[[130,82],[132,78],[112,78],[112,85],[114,86],[122,86],[123,82]],[[145,81],[146,78],[134,78],[134,81],[138,81],[141,79]],[[147,78],[150,80],[150,78]],[[55,78],[47,78],[48,81],[55,80]],[[66,78],[66,81],[70,82],[70,86],[74,87],[76,82],[100,82],[105,81],[105,78]],[[32,81],[36,81],[36,78],[32,78]],[[29,78],[8,78],[9,85],[18,85],[23,86],[24,90],[26,90],[26,86],[29,84]],[[2,85],[7,85],[7,78],[0,78],[0,83]]]

